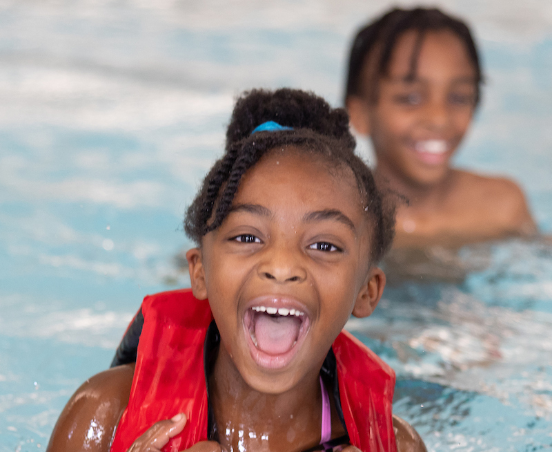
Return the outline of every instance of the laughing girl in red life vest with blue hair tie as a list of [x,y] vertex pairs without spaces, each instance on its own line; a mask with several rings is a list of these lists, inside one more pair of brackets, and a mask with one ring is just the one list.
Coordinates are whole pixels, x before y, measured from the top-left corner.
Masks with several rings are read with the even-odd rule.
[[192,289],[144,299],[49,451],[425,450],[393,370],[342,331],[382,296],[394,223],[348,122],[302,91],[238,100],[186,214]]

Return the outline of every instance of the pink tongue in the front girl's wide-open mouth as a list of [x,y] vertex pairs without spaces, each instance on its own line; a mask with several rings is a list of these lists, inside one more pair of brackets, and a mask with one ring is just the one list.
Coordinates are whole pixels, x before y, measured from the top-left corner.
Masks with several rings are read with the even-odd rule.
[[255,315],[257,348],[270,355],[280,355],[293,347],[301,321],[295,316]]

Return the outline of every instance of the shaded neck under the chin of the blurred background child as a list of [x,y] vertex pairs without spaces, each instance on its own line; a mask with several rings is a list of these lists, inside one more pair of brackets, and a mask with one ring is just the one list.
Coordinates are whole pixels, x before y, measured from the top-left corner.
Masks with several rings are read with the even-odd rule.
[[421,184],[398,175],[386,162],[378,162],[375,169],[377,178],[385,180],[398,193],[406,196],[412,209],[434,209],[442,203],[449,192],[453,174],[453,169],[449,168],[446,175],[431,184]]

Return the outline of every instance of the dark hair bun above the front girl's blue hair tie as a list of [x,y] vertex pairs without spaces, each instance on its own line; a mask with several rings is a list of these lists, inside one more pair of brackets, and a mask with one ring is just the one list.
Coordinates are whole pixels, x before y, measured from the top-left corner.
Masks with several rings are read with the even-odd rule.
[[254,89],[243,93],[236,102],[226,131],[226,149],[267,121],[293,129],[311,129],[337,139],[350,134],[346,111],[332,109],[314,93],[290,88]]

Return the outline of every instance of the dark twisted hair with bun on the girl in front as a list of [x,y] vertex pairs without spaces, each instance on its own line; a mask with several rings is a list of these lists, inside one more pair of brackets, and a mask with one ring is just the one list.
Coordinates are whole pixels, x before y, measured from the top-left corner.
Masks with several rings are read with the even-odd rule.
[[[274,121],[292,130],[252,131]],[[378,189],[371,170],[354,152],[355,138],[344,109],[332,109],[313,93],[282,88],[253,90],[236,102],[228,131],[226,151],[210,169],[199,193],[188,207],[184,230],[201,245],[201,238],[217,229],[228,215],[239,182],[269,151],[288,145],[319,156],[335,168],[349,168],[358,183],[366,214],[373,223],[371,262],[380,261],[391,247],[395,207]]]

